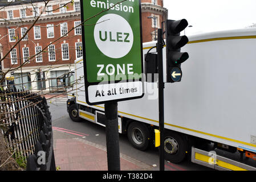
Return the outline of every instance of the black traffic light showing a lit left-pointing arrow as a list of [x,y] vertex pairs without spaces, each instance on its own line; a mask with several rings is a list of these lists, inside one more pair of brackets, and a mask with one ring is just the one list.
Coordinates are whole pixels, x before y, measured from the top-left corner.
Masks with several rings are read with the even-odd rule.
[[181,63],[189,58],[188,52],[180,52],[181,47],[188,43],[187,36],[180,36],[180,32],[188,26],[186,19],[166,20],[166,82],[181,81]]

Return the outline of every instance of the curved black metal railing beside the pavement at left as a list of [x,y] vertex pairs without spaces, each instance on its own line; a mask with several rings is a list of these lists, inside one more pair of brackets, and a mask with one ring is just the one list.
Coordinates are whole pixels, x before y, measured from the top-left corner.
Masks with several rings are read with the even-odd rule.
[[11,153],[26,159],[28,171],[55,170],[51,113],[45,97],[30,92],[0,91],[0,132]]

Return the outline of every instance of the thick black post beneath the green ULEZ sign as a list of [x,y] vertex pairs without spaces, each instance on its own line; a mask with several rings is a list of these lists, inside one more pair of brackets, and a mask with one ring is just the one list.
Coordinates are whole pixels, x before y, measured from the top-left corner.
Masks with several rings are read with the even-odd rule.
[[105,123],[108,171],[120,171],[119,130],[117,102],[105,104]]

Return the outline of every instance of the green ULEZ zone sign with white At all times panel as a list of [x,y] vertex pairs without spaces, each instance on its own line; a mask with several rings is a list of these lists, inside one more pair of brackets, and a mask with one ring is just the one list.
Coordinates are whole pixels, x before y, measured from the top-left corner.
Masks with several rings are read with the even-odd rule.
[[[82,5],[84,73],[87,97],[93,103],[142,96],[143,56],[140,0],[86,0]],[[96,16],[95,16],[96,15]],[[139,80],[140,88],[118,81]],[[109,81],[115,84],[108,84]],[[99,89],[96,84],[108,85]],[[94,86],[91,86],[94,85]],[[97,88],[96,88],[97,87]],[[93,89],[92,89],[93,88]],[[112,96],[106,97],[109,89]],[[127,90],[122,93],[119,90]],[[128,90],[129,89],[129,90]],[[137,90],[135,92],[135,90]],[[141,91],[141,92],[140,92]],[[96,92],[96,93],[95,93]],[[131,94],[135,93],[135,94]],[[123,94],[121,96],[121,94]],[[126,94],[126,95],[125,95]],[[130,94],[128,96],[128,94]],[[119,95],[119,96],[116,96]],[[94,97],[94,99],[92,99]],[[96,99],[95,99],[96,98]],[[90,99],[87,98],[87,102]],[[90,102],[91,103],[91,102]]]

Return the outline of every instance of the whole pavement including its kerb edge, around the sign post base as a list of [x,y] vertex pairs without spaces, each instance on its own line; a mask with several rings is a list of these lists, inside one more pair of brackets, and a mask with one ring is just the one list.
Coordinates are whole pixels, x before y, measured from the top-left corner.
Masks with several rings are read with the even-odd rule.
[[[55,164],[59,171],[108,171],[105,146],[89,142],[82,133],[56,127],[52,129]],[[121,171],[155,170],[154,167],[121,153],[120,169]]]

